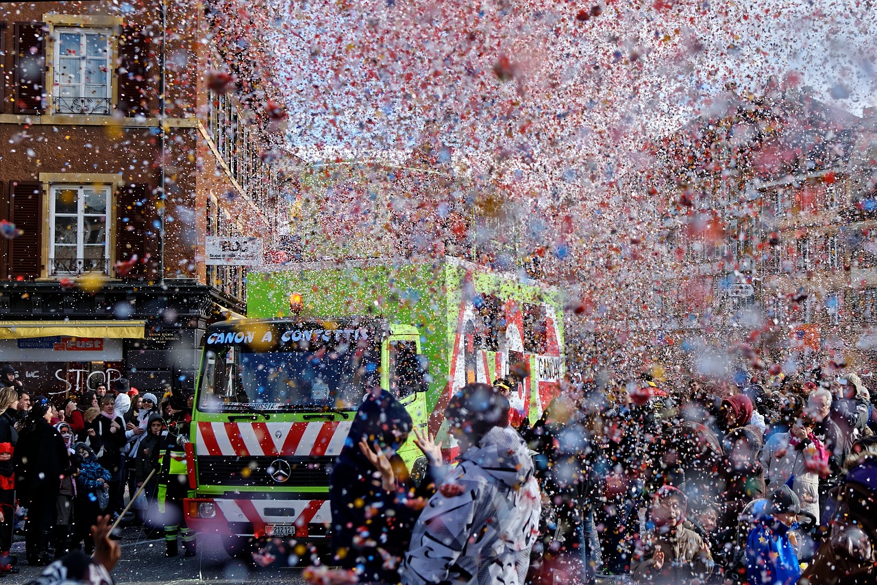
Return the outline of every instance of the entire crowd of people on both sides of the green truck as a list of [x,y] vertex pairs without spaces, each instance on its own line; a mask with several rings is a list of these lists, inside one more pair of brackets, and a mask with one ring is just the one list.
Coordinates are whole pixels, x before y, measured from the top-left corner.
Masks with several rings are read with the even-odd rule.
[[[170,395],[162,407],[119,380],[58,405],[6,374],[0,568],[15,570],[17,504],[27,509],[27,561],[45,565],[80,545],[93,552],[98,516],[118,514],[125,492],[144,484],[146,500],[171,518],[168,556],[177,538],[194,555],[185,487],[170,480],[188,438],[185,398]],[[856,374],[567,380],[533,423],[510,408],[517,383],[453,394],[445,445],[375,384],[332,467],[340,568],[311,567],[307,578],[877,582],[877,409]],[[411,471],[399,456],[409,437],[424,456]]]

